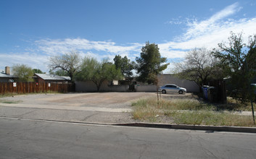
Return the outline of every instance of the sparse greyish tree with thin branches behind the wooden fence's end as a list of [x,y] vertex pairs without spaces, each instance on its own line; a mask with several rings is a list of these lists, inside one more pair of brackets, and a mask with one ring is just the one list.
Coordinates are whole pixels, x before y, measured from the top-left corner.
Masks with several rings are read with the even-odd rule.
[[49,59],[49,68],[53,70],[63,70],[67,72],[71,81],[74,82],[75,72],[80,67],[80,56],[78,51],[70,51],[60,56],[51,56]]

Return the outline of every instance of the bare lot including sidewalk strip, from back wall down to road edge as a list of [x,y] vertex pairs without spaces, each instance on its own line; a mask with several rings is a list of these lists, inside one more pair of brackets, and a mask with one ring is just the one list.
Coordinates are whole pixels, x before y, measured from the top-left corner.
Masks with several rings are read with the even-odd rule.
[[[165,94],[162,98],[187,98],[191,94]],[[0,117],[82,121],[89,123],[135,122],[133,101],[157,98],[156,93],[67,93],[14,95],[0,98]]]

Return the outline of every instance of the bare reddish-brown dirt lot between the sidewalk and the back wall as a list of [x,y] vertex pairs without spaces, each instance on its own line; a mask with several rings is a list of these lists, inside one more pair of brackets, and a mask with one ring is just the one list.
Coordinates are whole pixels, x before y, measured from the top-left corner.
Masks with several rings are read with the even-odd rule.
[[[186,95],[161,94],[162,98],[188,98]],[[157,93],[67,93],[67,94],[33,94],[14,95],[0,100],[14,101],[22,104],[39,104],[49,106],[76,106],[99,108],[131,108],[131,103],[139,98],[157,98]]]

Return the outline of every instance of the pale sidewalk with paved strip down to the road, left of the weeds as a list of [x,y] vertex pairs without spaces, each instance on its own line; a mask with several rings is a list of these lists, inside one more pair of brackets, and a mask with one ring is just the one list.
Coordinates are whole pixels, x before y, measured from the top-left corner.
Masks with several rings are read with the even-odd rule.
[[128,108],[93,108],[0,103],[0,117],[117,124],[135,122]]

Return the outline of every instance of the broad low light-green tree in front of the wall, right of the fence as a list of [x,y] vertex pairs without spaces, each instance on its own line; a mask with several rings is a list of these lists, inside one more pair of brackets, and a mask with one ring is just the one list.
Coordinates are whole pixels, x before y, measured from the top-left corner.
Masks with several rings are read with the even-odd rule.
[[94,82],[99,92],[102,83],[112,80],[120,80],[122,74],[120,69],[115,68],[115,64],[107,61],[99,62],[94,58],[85,57],[80,67],[80,72],[76,75],[76,79],[80,81],[90,80]]

